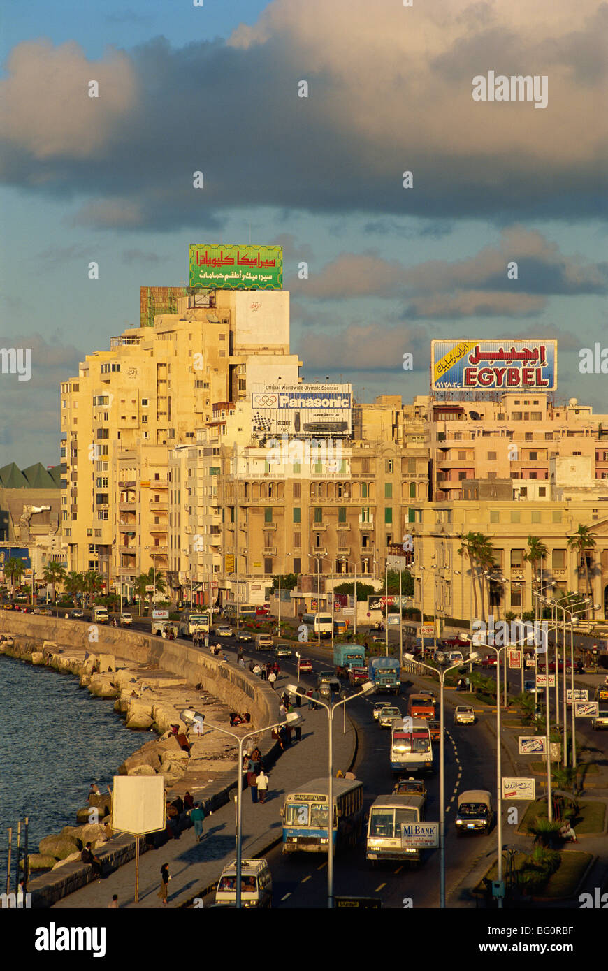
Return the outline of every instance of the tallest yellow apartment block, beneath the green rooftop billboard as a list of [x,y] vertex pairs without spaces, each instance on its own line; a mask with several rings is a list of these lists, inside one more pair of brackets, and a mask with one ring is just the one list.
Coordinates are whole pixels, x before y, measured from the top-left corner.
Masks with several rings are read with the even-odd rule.
[[297,381],[288,297],[172,293],[175,313],[153,316],[153,326],[144,317],[146,325],[112,338],[109,351],[88,354],[78,377],[61,385],[69,569],[96,570],[107,590],[122,584],[125,593],[152,564],[170,572],[170,531],[174,517],[181,521],[183,489],[169,479],[169,451],[193,445],[195,429],[207,423],[220,436],[222,409],[215,406],[245,399],[248,381],[273,362],[280,366],[271,377]]

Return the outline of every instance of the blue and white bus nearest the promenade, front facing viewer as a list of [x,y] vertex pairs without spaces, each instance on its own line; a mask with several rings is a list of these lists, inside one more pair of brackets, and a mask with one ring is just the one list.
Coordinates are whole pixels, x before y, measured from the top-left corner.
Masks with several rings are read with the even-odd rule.
[[[354,847],[363,822],[363,784],[355,779],[334,779],[333,844],[337,852],[343,846]],[[287,792],[281,810],[283,817],[283,852],[327,853],[328,780],[312,782]]]

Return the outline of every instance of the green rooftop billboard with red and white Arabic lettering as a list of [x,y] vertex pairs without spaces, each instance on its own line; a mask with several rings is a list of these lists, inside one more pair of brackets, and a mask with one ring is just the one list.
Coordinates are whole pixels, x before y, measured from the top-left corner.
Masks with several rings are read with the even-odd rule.
[[190,286],[222,290],[283,289],[283,247],[191,244]]

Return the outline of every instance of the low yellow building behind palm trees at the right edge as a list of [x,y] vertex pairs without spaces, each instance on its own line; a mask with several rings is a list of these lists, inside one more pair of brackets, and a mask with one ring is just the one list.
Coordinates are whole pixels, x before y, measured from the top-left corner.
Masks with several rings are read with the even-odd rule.
[[[469,531],[489,536],[495,550],[496,568],[484,580],[487,616],[489,605],[494,616],[500,617],[508,611],[517,615],[532,610],[532,581],[536,590],[542,582],[548,595],[557,599],[568,590],[587,596],[585,564],[567,545],[568,537],[583,524],[595,540],[594,549],[587,553],[591,597],[599,605],[595,617],[605,617],[608,489],[603,498],[603,503],[599,497],[565,497],[542,503],[480,498],[419,504],[415,522],[409,527],[414,538],[415,606],[420,609],[423,599],[426,614],[433,613],[436,603],[438,617],[475,618],[468,558],[458,554],[461,537]],[[542,575],[538,567],[536,577],[532,576],[532,564],[524,559],[530,535],[538,537],[548,551]]]

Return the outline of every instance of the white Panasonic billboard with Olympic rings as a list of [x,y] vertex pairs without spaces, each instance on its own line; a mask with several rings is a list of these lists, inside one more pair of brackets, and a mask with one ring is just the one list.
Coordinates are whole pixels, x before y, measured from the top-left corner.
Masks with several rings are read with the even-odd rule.
[[[264,435],[304,435],[315,436],[318,440],[331,435],[348,435],[351,431],[353,408],[352,385],[253,385],[252,419],[253,433]],[[289,443],[289,445],[297,443]],[[315,450],[310,457],[293,452],[287,460],[315,461]],[[301,450],[300,450],[301,451]],[[325,445],[325,452],[335,449]],[[340,455],[321,454],[330,459]]]

